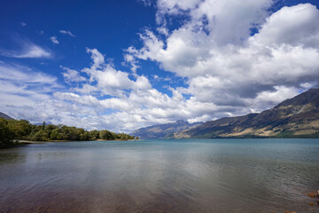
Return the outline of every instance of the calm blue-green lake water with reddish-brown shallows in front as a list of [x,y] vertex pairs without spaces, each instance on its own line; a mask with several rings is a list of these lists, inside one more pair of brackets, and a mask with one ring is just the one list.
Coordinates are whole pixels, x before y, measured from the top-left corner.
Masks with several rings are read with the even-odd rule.
[[319,139],[57,142],[0,150],[0,212],[319,212]]

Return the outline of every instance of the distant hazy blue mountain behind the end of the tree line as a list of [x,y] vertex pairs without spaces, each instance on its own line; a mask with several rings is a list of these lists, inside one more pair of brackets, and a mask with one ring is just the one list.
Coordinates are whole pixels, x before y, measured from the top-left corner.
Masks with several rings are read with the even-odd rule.
[[169,122],[134,130],[130,135],[142,139],[170,138],[173,137],[176,131],[186,130],[201,123],[202,122],[189,123],[184,121]]

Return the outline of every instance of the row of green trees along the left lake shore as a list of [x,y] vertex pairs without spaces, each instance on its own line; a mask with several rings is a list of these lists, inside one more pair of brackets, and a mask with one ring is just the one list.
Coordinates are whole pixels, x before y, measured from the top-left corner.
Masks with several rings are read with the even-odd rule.
[[27,120],[6,120],[0,118],[0,142],[11,144],[14,139],[31,141],[50,140],[128,140],[134,139],[124,133],[114,133],[109,130],[84,130],[82,128],[69,127],[66,125],[45,124],[34,125]]

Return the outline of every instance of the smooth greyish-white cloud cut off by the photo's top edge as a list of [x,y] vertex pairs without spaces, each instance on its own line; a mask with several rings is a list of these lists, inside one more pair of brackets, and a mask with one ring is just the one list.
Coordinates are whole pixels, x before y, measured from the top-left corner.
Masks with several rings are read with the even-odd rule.
[[206,28],[217,45],[238,44],[250,36],[250,28],[264,21],[271,4],[272,0],[206,0],[191,12],[191,18],[201,22],[199,27]]

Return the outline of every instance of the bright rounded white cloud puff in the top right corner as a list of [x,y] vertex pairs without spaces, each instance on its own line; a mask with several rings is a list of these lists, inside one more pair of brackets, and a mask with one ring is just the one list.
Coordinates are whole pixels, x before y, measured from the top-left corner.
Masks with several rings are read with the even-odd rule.
[[284,7],[268,17],[252,40],[264,45],[319,47],[319,11],[312,4]]

